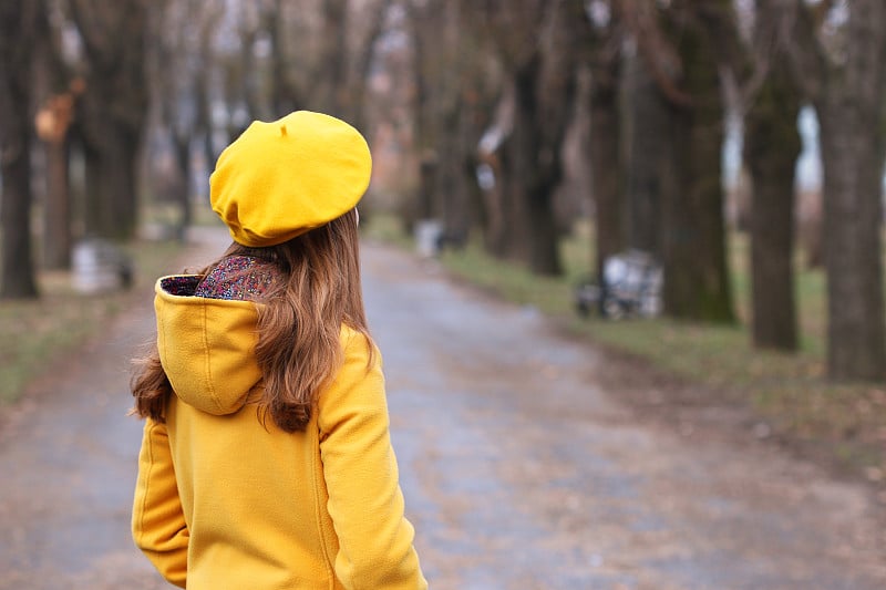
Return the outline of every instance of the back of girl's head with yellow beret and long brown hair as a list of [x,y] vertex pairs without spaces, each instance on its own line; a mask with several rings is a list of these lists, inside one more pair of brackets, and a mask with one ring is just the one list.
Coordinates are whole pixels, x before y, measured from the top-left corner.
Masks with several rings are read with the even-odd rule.
[[372,159],[349,124],[298,111],[255,122],[219,156],[213,209],[234,240],[267,249],[280,281],[258,314],[260,407],[302,429],[341,362],[342,324],[369,338],[360,284],[356,205]]

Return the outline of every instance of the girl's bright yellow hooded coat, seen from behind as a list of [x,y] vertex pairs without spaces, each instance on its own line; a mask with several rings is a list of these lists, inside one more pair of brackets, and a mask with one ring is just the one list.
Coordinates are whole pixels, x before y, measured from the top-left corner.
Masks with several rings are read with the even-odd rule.
[[[173,279],[186,280],[184,278]],[[248,301],[156,286],[157,344],[176,395],[147,420],[135,544],[192,590],[424,589],[389,436],[381,361],[342,328],[344,363],[305,433],[262,424]]]

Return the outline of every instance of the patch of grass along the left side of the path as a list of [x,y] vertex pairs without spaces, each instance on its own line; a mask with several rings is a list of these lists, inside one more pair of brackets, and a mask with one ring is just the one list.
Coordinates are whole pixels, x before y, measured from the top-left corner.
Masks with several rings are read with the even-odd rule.
[[[178,242],[134,242],[135,289],[168,270]],[[85,296],[71,287],[69,272],[40,272],[40,298],[0,302],[0,407],[16,402],[53,359],[76,349],[130,302],[131,291]]]

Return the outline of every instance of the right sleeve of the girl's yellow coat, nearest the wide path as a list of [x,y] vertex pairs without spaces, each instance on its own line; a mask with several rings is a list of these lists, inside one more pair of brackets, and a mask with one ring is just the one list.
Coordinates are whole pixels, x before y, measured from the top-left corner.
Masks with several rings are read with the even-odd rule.
[[381,355],[362,335],[319,401],[320,455],[328,510],[339,540],[336,576],[348,590],[427,588],[404,517],[389,434]]

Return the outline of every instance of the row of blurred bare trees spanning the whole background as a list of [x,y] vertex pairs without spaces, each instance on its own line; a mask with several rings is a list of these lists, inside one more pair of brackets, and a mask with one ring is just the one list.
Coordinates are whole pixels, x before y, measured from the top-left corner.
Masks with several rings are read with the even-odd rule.
[[[827,277],[828,374],[883,380],[883,22],[879,0],[3,0],[0,297],[37,294],[32,158],[40,263],[58,267],[72,237],[132,237],[145,186],[187,225],[195,158],[212,166],[253,118],[311,108],[370,135],[384,123],[414,178],[398,201],[408,224],[439,219],[447,240],[480,234],[494,256],[556,275],[570,211],[590,210],[598,270],[648,251],[668,315],[734,322],[732,117],[750,178],[753,341],[795,350],[806,107],[823,167],[820,249],[806,253]],[[564,214],[576,133],[583,200]],[[155,137],[172,164],[140,180]]]

